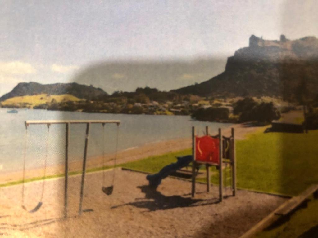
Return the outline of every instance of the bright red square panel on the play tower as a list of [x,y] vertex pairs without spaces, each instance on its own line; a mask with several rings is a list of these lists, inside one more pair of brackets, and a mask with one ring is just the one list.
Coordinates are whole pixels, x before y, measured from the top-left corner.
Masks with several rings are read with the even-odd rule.
[[196,160],[219,164],[219,139],[202,136],[196,140]]

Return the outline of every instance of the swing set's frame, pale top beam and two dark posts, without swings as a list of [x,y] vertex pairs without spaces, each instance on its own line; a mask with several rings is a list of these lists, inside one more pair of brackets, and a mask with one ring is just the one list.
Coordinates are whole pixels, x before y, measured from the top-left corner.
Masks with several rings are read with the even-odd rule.
[[83,172],[81,180],[81,190],[80,190],[80,200],[79,200],[79,216],[82,214],[82,203],[84,195],[84,181],[86,173],[86,158],[87,158],[87,148],[88,148],[88,135],[89,135],[89,125],[91,123],[116,123],[120,124],[119,120],[39,120],[39,121],[25,121],[26,128],[31,124],[65,124],[65,184],[64,184],[64,219],[67,219],[67,188],[68,188],[68,149],[69,149],[69,137],[70,137],[70,124],[86,124],[86,138],[85,138],[85,148],[84,148],[84,160],[83,160]]

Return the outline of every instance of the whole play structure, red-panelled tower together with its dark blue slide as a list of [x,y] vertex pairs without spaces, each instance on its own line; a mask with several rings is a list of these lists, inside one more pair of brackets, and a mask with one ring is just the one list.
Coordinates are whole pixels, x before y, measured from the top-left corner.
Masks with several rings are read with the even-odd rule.
[[[231,136],[222,136],[221,129],[218,129],[218,135],[209,135],[209,128],[205,127],[205,135],[202,137],[195,135],[195,127],[192,127],[192,155],[177,157],[177,162],[166,165],[158,173],[147,175],[149,186],[157,188],[161,180],[176,172],[188,172],[182,168],[187,167],[192,162],[192,192],[191,196],[195,195],[196,176],[199,169],[205,166],[207,192],[210,191],[210,167],[215,166],[219,173],[219,200],[223,199],[223,176],[225,182],[231,180],[232,195],[236,194],[236,160],[235,160],[235,141],[234,128],[231,129]],[[223,166],[225,164],[225,167]],[[230,177],[226,176],[223,169],[227,169],[229,165]]]

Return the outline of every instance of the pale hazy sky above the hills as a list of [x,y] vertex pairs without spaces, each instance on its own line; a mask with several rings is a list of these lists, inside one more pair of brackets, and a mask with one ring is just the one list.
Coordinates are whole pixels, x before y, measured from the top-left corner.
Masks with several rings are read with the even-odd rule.
[[[183,84],[200,83],[222,72],[226,58],[247,47],[252,34],[264,39],[279,39],[281,34],[288,39],[317,37],[317,3],[0,0],[0,95],[19,82],[72,82],[76,75],[100,63],[124,62],[125,67],[130,61],[219,59],[216,69],[209,71],[211,76],[189,76]],[[81,83],[98,84],[109,93],[145,85],[165,90],[176,87],[172,83],[175,75],[150,81],[151,72],[139,74],[142,78],[138,82],[133,81],[136,77],[126,75],[125,80],[114,83],[123,79],[116,77],[123,73],[120,68],[112,73],[102,81],[89,78]],[[193,74],[199,75],[195,70]]]

